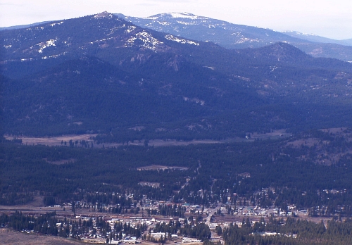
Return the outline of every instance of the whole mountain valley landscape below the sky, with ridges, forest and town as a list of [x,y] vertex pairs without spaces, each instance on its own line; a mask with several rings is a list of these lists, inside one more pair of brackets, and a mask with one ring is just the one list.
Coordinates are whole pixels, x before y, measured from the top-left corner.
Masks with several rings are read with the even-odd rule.
[[351,244],[352,46],[291,35],[189,13],[0,30],[1,242]]

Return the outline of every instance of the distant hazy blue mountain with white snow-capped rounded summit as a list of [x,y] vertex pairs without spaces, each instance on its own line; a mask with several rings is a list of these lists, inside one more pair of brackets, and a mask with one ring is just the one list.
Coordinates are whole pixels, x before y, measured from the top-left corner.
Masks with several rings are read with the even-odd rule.
[[116,15],[142,27],[190,39],[214,42],[227,49],[260,47],[282,41],[302,41],[281,32],[247,25],[235,25],[191,13],[161,13],[146,18],[125,16],[120,13]]

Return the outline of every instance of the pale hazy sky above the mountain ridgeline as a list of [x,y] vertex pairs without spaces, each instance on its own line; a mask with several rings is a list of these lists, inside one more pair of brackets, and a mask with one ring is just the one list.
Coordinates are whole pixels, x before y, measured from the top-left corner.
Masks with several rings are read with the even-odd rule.
[[351,0],[0,0],[0,27],[108,11],[135,17],[189,12],[230,23],[352,38]]

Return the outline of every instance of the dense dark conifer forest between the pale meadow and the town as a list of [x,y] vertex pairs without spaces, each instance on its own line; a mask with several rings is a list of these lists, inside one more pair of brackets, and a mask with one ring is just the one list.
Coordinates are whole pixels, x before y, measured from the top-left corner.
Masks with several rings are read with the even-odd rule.
[[[0,203],[27,203],[39,194],[46,204],[97,201],[119,205],[113,212],[120,213],[145,195],[174,203],[240,202],[282,211],[294,204],[313,216],[349,216],[351,144],[348,136],[321,130],[290,138],[167,147],[87,149],[3,141]],[[141,169],[150,165],[165,168]],[[114,193],[134,194],[134,199]]]

